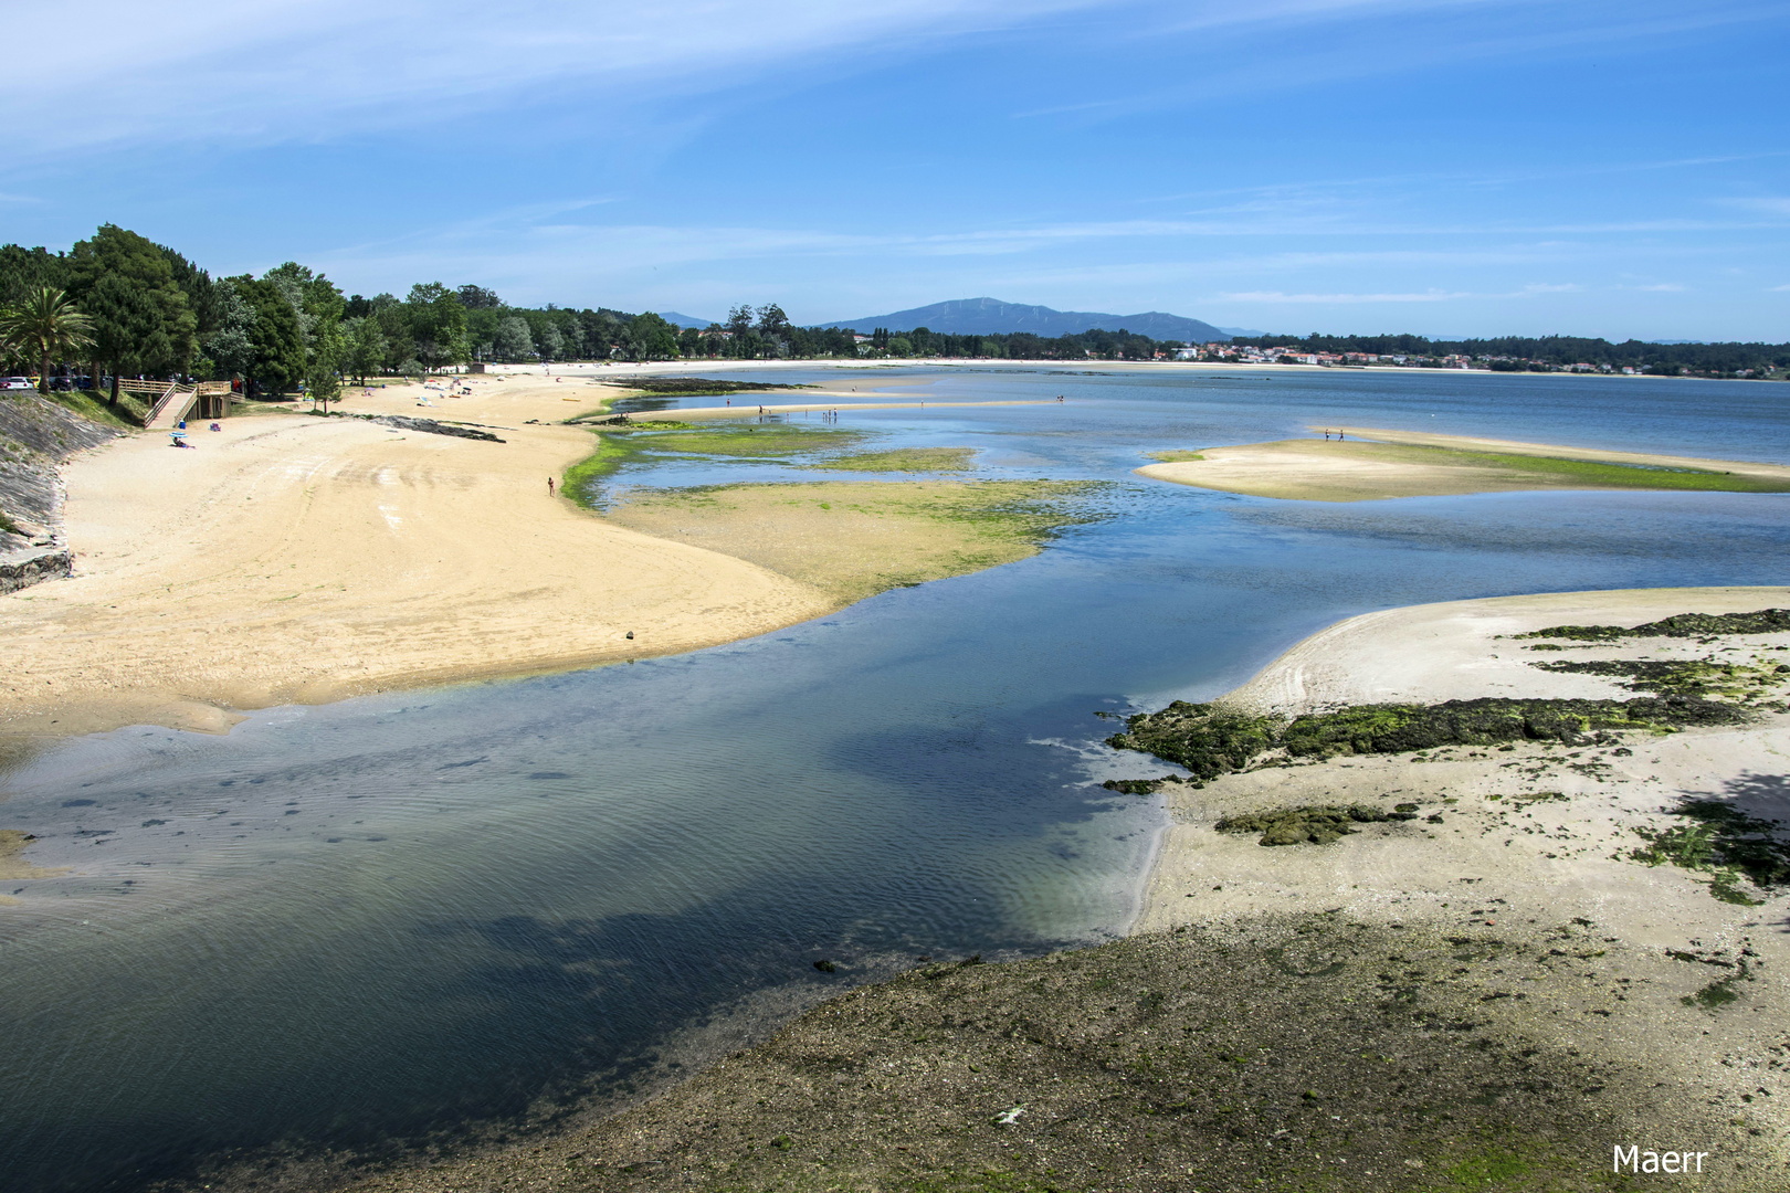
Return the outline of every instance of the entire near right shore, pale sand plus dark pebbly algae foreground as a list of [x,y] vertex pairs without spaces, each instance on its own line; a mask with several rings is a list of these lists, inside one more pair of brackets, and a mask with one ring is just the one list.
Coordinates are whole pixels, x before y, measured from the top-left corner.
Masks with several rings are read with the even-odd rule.
[[[1602,678],[1527,667],[1557,649],[1504,658],[1520,646],[1509,635],[1786,603],[1785,587],[1731,587],[1382,610],[1308,637],[1224,699],[1294,714],[1462,699],[1514,676],[1548,692],[1620,692]],[[1743,637],[1790,647],[1790,631]],[[1505,665],[1484,665],[1486,644]],[[1711,642],[1665,646],[1690,655]],[[1611,649],[1593,644],[1572,658]],[[1366,680],[1353,667],[1362,658],[1380,662]],[[1760,749],[1760,737],[1774,744]],[[1790,1127],[1790,1082],[1776,1062],[1790,996],[1781,887],[1765,905],[1738,907],[1711,898],[1692,871],[1609,866],[1606,841],[1568,857],[1552,837],[1559,866],[1538,882],[1523,871],[1536,871],[1548,846],[1523,837],[1609,819],[1618,846],[1634,842],[1618,821],[1656,817],[1652,801],[1686,766],[1781,769],[1790,714],[1625,740],[1632,749],[1613,762],[1634,776],[1573,766],[1595,749],[1518,744],[1271,764],[1174,785],[1176,817],[1146,876],[1149,901],[1119,941],[1002,964],[918,959],[770,1039],[711,1057],[641,1104],[401,1164],[353,1188],[442,1193],[548,1177],[591,1189],[671,1179],[711,1189],[956,1188],[949,1182],[983,1170],[1013,1188],[1106,1188],[1122,1164],[1128,1188],[1162,1193],[1253,1188],[1264,1177],[1276,1188],[1391,1193],[1484,1184],[1487,1172],[1498,1188],[1597,1189],[1625,1188],[1607,1175],[1613,1143],[1684,1139],[1711,1157],[1708,1188],[1779,1188]],[[1668,758],[1674,748],[1693,757]],[[1462,753],[1475,757],[1453,757]],[[1666,778],[1647,778],[1656,771]],[[1443,837],[1479,814],[1473,783],[1493,796],[1487,807],[1509,801],[1502,810],[1514,823],[1498,830],[1511,844],[1462,869]],[[1539,783],[1572,794],[1518,798]],[[1624,792],[1625,783],[1641,791]],[[1441,807],[1443,823],[1271,850],[1210,832],[1214,805],[1300,792],[1412,798],[1423,810]],[[1624,803],[1615,814],[1611,792]],[[1543,814],[1556,819],[1532,832],[1527,819]],[[1625,871],[1622,882],[1586,880],[1600,867]],[[1384,1079],[1364,1082],[1366,1071]]]

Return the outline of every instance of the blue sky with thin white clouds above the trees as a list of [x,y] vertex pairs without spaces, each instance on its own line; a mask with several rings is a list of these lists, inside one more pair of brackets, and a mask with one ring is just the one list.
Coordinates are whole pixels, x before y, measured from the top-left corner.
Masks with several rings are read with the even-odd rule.
[[95,68],[0,75],[0,241],[800,324],[1790,340],[1790,2],[0,11]]

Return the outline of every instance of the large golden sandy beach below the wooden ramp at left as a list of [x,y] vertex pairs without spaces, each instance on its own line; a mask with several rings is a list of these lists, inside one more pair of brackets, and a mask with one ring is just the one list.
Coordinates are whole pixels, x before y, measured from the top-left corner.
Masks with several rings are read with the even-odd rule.
[[73,576],[0,597],[0,730],[218,732],[236,710],[689,651],[834,608],[548,495],[592,451],[557,422],[607,388],[469,385],[431,408],[419,386],[349,390],[342,408],[505,442],[265,413],[188,451],[136,435],[70,461]]

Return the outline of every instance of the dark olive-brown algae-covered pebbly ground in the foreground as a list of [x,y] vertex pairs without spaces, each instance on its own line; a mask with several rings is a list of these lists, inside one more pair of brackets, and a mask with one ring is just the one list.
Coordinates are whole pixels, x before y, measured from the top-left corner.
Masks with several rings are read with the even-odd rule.
[[1317,914],[925,962],[578,1134],[356,1188],[1618,1189],[1613,1143],[1661,1127],[1718,1150],[1699,1188],[1772,1188],[1708,1091],[1615,1059],[1634,1018],[1717,1012],[1629,1003],[1661,962],[1584,921],[1525,932]]

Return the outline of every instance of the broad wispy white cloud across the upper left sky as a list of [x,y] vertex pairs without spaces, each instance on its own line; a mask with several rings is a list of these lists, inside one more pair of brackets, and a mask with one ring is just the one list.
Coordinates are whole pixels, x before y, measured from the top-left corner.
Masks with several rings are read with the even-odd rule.
[[705,93],[791,61],[900,48],[1113,0],[63,0],[7,5],[14,45],[129,73],[47,88],[4,72],[0,150],[313,141],[555,98]]

